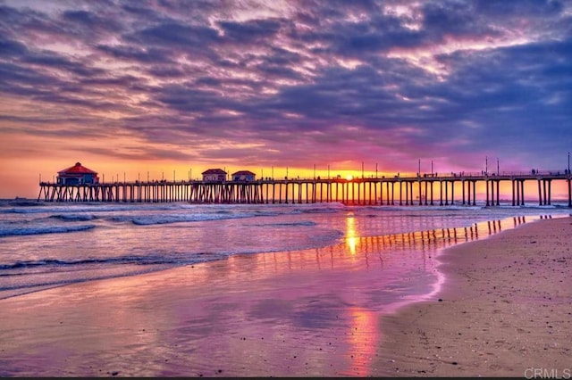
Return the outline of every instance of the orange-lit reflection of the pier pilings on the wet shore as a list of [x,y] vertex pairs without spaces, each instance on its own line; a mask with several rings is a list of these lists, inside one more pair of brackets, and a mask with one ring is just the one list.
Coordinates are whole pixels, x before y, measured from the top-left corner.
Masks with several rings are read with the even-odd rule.
[[[551,219],[551,215],[540,216],[538,219]],[[361,264],[369,268],[375,262],[383,268],[384,260],[391,260],[391,255],[399,252],[438,252],[454,244],[470,242],[495,235],[503,230],[518,227],[531,219],[530,216],[518,216],[509,219],[496,219],[492,221],[477,222],[470,227],[438,228],[420,232],[409,232],[391,235],[373,235],[361,237],[346,237],[344,244],[332,245],[325,248],[316,248],[310,257],[309,251],[286,252],[286,262],[282,253],[274,253],[274,265],[287,265],[289,269],[292,263],[302,267],[316,266],[322,268],[336,268],[338,260],[362,261]],[[292,255],[298,256],[295,258]],[[263,255],[264,257],[265,255]],[[431,259],[431,255],[427,258]]]

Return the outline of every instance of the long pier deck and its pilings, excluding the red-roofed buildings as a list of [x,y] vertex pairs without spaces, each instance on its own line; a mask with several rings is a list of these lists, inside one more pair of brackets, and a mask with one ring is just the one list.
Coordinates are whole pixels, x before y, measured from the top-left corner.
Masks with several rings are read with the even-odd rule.
[[[46,202],[189,202],[189,203],[315,203],[355,205],[476,205],[477,185],[485,187],[486,206],[499,206],[501,183],[512,190],[513,206],[525,204],[525,182],[536,181],[538,204],[551,204],[551,185],[563,181],[572,207],[569,173],[536,172],[485,175],[424,174],[392,178],[292,178],[255,181],[147,181],[62,185],[41,182],[38,201]],[[460,197],[455,197],[460,191]],[[457,193],[458,195],[458,193]],[[529,198],[530,199],[530,198]]]

